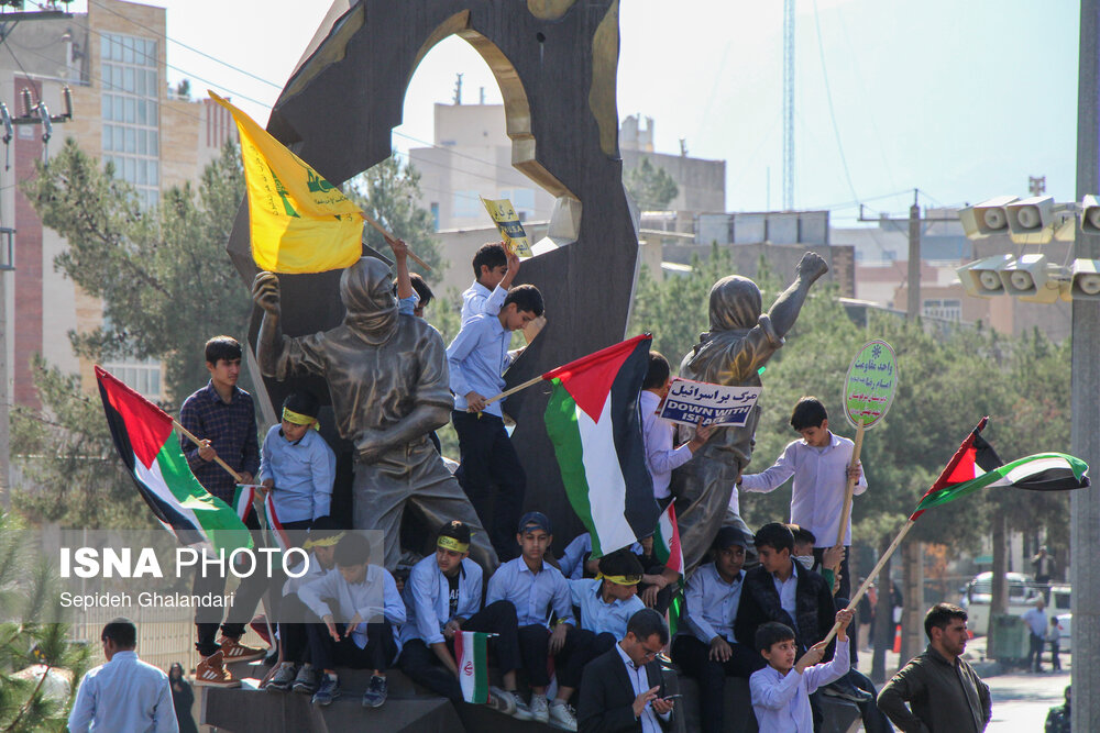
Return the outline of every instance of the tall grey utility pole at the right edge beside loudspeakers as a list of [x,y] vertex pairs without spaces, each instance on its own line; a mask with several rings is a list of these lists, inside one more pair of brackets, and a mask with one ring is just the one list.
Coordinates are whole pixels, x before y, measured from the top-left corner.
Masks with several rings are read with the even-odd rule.
[[[1077,91],[1077,195],[1078,200],[1100,189],[1097,154],[1100,153],[1100,79],[1097,57],[1100,46],[1100,0],[1081,0],[1081,34]],[[1100,257],[1100,236],[1077,230],[1075,257]],[[1075,456],[1093,469],[1100,466],[1100,301],[1074,299],[1072,387],[1070,434]],[[1072,593],[1075,733],[1100,731],[1100,486],[1070,491],[1070,581]]]

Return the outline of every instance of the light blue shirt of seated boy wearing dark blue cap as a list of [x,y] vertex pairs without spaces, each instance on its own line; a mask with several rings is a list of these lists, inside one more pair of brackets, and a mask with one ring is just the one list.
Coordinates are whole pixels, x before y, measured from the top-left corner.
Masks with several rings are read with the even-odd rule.
[[531,573],[522,557],[508,560],[488,579],[485,604],[508,601],[516,607],[520,626],[550,628],[550,611],[558,621],[573,620],[572,593],[561,570],[542,563],[542,569]]

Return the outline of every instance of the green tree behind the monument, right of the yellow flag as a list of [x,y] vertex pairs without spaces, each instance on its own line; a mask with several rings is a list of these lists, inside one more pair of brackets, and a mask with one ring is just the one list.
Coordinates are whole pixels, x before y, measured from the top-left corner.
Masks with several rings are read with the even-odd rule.
[[[420,174],[411,164],[402,165],[396,152],[382,163],[355,176],[344,187],[344,192],[360,208],[398,236],[420,259],[431,267],[426,273],[409,259],[409,269],[420,273],[429,282],[438,282],[443,275],[444,260],[436,244],[436,226],[431,212],[420,207]],[[366,225],[366,243],[382,254],[389,255],[389,245],[382,234]]]

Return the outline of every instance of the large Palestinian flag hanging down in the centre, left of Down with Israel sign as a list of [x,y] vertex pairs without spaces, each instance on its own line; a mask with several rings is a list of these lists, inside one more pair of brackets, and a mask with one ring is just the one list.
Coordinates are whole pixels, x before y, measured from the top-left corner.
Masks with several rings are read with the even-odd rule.
[[657,524],[638,412],[650,342],[649,334],[635,336],[542,375],[553,385],[547,435],[593,557],[634,544]]

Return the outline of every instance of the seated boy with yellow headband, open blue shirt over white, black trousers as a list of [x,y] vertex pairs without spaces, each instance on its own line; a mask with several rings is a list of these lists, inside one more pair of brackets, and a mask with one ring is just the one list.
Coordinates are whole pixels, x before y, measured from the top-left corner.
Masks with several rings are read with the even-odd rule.
[[470,559],[470,527],[458,520],[440,527],[436,553],[413,567],[405,585],[407,620],[402,626],[402,670],[416,682],[458,704],[462,702],[454,635],[462,631],[496,634],[490,638],[504,689],[490,688],[490,708],[531,720],[516,692],[519,628],[516,607],[499,600],[482,608],[482,569]]

